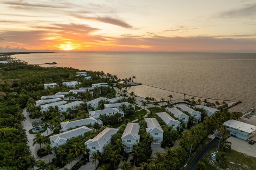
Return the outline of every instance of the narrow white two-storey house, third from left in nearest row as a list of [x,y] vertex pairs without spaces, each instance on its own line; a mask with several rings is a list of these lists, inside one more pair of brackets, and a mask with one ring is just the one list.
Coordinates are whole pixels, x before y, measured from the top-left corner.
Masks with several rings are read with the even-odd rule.
[[133,146],[140,141],[140,135],[138,135],[140,130],[139,123],[127,123],[124,133],[121,137],[124,145],[126,145],[125,152],[132,152]]

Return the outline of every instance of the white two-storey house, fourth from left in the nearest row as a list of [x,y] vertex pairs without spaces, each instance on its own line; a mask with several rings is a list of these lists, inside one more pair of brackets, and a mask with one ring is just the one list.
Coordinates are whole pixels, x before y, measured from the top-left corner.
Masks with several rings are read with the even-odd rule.
[[152,142],[151,147],[160,147],[163,141],[164,131],[156,118],[145,118],[147,123],[146,131],[153,137],[154,142]]

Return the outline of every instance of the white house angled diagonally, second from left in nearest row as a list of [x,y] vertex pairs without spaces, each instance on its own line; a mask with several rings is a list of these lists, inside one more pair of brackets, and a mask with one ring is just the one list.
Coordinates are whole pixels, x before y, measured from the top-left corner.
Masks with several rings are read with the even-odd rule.
[[107,127],[102,132],[100,132],[96,137],[93,139],[89,139],[86,141],[85,147],[87,149],[90,149],[89,151],[89,159],[92,161],[92,153],[97,152],[99,150],[101,153],[103,153],[104,147],[106,147],[108,144],[111,143],[112,135],[118,132],[118,129],[109,128]]

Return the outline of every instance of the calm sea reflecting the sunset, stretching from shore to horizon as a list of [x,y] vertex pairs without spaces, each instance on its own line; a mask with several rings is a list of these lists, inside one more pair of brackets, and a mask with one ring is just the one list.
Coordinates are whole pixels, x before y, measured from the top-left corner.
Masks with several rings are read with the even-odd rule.
[[256,54],[72,52],[15,57],[29,64],[56,62],[55,66],[59,67],[108,72],[121,79],[136,76],[135,82],[146,85],[130,87],[128,92],[156,100],[167,100],[169,94],[174,96],[173,100],[184,98],[182,94],[167,91],[171,90],[202,99],[242,101],[232,111],[247,111],[256,106]]

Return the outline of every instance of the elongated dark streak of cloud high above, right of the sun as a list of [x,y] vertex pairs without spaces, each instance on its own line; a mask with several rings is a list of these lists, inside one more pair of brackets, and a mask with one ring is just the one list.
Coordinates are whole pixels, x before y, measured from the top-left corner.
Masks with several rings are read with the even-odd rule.
[[118,25],[118,26],[124,27],[124,28],[132,28],[132,25],[129,25],[125,21],[111,18],[111,17],[87,17],[87,16],[80,16],[77,14],[71,14],[71,16],[78,18],[78,19],[82,19],[82,20],[98,21],[98,22],[110,23],[112,25]]

